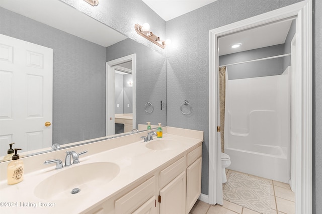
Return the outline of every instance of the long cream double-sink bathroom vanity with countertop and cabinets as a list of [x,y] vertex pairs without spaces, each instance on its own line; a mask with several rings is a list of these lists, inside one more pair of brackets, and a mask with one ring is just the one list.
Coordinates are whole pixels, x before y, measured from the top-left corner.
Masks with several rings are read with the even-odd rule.
[[[201,193],[203,132],[163,132],[147,142],[144,131],[23,158],[24,180],[16,185],[7,184],[9,162],[2,162],[0,212],[189,213]],[[88,152],[62,169],[43,164],[64,162],[69,150]]]

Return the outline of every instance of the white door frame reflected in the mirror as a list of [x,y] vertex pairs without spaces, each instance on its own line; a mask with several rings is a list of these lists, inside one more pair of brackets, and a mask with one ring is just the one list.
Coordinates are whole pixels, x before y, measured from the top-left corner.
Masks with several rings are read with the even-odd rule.
[[[132,79],[133,79],[133,91],[132,91],[132,113],[133,113],[133,129],[136,127],[136,54],[131,54],[118,59],[114,59],[106,62],[106,136],[114,135],[114,123],[115,123],[115,79],[114,79],[114,67],[129,62],[132,60]],[[111,98],[109,98],[111,97]]]

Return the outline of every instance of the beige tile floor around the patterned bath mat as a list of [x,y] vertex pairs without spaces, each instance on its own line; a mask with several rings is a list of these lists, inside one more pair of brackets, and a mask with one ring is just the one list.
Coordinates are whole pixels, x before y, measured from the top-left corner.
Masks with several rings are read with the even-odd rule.
[[[232,170],[226,169],[227,179]],[[252,176],[252,175],[250,175]],[[265,179],[265,178],[263,178]],[[295,213],[295,195],[287,183],[265,179],[271,186],[271,213],[292,214]],[[224,184],[223,184],[224,185]],[[210,205],[201,200],[197,200],[189,212],[190,214],[258,214],[259,212],[223,200],[223,205]]]

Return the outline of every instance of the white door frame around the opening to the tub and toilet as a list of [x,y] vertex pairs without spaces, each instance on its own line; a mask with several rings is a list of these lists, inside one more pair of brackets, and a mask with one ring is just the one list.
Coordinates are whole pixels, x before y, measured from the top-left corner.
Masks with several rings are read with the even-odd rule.
[[[218,37],[296,17],[296,102],[292,133],[296,133],[295,210],[312,212],[312,0],[305,0],[209,31],[209,189],[208,203],[222,204],[218,125]],[[292,74],[293,75],[293,74]],[[294,84],[294,83],[293,83]],[[219,176],[216,176],[219,175]]]

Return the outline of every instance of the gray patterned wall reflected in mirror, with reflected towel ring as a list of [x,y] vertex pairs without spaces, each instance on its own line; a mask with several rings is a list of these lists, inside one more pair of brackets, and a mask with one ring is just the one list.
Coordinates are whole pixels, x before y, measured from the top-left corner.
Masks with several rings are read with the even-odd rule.
[[[106,61],[136,54],[136,124],[166,125],[166,108],[161,110],[160,101],[166,107],[166,57],[132,39],[125,39],[106,49]],[[152,102],[154,110],[145,112],[144,105]],[[137,126],[136,126],[137,128]]]

